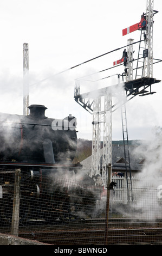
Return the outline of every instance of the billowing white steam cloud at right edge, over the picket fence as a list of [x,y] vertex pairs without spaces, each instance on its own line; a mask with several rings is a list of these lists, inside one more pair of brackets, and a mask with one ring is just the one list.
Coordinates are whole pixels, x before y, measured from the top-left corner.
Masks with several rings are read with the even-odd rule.
[[[142,155],[144,166],[137,175],[137,182],[133,186],[133,193],[139,198],[131,204],[129,210],[122,209],[127,217],[142,218],[143,220],[156,220],[162,217],[161,189],[162,185],[162,129],[154,127],[150,141],[134,150],[134,154]],[[134,184],[132,182],[132,184]]]

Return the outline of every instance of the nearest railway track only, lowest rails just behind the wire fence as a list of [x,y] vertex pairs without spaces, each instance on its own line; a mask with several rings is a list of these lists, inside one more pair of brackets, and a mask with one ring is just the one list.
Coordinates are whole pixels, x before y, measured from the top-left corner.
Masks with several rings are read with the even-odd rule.
[[[33,238],[29,234],[21,234],[21,237]],[[37,233],[35,239],[54,245],[105,245],[105,230],[46,231]],[[138,243],[161,244],[161,241],[161,228],[109,229],[107,236],[107,245],[117,243],[129,245]]]

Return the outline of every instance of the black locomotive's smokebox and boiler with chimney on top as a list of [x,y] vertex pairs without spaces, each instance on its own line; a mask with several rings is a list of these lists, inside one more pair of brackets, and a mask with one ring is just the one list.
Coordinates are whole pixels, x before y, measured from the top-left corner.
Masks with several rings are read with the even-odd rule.
[[0,113],[0,161],[72,162],[76,152],[76,118],[48,118],[44,105],[31,105],[29,109],[29,115]]

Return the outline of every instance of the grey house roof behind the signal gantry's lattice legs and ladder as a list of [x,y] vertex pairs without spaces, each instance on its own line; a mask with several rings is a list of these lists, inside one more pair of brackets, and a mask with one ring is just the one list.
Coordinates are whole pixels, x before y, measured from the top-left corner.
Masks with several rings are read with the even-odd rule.
[[[129,159],[131,170],[141,170],[142,164],[144,164],[144,157],[138,152],[136,145],[129,145]],[[101,149],[101,166],[102,166],[102,154]],[[83,169],[91,169],[92,166],[92,155],[81,162]],[[125,170],[125,154],[124,145],[113,144],[112,145],[112,169],[113,170]]]

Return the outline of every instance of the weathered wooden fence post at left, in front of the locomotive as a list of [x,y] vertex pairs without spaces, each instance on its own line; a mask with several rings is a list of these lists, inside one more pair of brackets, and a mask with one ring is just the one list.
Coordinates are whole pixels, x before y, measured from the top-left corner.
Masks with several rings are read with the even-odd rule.
[[21,179],[21,169],[16,169],[15,170],[13,211],[12,211],[12,227],[11,227],[11,234],[15,235],[15,236],[18,236],[18,225],[19,225],[20,179]]

